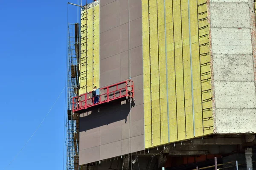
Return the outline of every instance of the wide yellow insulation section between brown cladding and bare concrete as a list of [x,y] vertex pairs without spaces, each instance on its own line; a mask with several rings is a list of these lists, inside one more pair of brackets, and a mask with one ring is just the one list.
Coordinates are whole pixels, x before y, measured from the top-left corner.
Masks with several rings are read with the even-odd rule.
[[145,148],[212,133],[206,0],[165,5],[166,17],[163,0],[142,0]]

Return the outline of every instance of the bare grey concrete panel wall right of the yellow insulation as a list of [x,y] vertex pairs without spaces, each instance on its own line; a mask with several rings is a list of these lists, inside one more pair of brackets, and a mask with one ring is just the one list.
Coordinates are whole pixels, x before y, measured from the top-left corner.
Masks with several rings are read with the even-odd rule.
[[252,9],[253,0],[210,0],[215,133],[256,132]]

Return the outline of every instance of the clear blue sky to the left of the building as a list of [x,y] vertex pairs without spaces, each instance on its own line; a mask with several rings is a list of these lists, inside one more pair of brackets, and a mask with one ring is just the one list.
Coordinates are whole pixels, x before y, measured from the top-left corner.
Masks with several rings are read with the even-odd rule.
[[[8,164],[64,88],[67,2],[77,0],[1,1],[0,169],[63,169],[65,93]],[[77,22],[76,14],[77,8],[69,6],[69,23]]]

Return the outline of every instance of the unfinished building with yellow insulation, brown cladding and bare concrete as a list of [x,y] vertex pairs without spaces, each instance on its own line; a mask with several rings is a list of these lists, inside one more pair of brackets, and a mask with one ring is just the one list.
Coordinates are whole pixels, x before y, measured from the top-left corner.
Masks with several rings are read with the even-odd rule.
[[255,31],[253,0],[83,6],[74,96],[131,79],[136,100],[73,107],[79,166],[256,168]]

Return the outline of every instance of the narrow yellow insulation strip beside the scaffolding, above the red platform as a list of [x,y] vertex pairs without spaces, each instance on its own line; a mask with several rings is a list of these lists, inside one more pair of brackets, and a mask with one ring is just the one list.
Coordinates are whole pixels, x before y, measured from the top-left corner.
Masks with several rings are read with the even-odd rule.
[[99,4],[81,14],[80,94],[99,86]]

